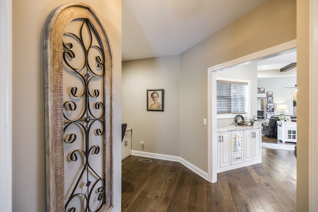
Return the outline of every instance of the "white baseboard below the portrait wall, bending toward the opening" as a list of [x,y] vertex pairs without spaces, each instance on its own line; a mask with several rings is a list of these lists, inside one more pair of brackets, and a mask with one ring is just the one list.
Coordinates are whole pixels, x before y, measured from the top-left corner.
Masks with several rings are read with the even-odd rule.
[[179,156],[173,156],[173,155],[167,155],[167,154],[157,154],[157,153],[152,153],[152,152],[145,152],[145,151],[136,151],[132,150],[131,151],[132,155],[136,156],[142,156],[142,157],[150,157],[150,158],[156,158],[156,159],[161,159],[161,160],[170,160],[170,161],[176,161],[180,162],[182,165],[199,175],[200,177],[204,178],[205,180],[208,180],[208,173],[203,171],[202,169],[196,167],[192,163],[186,161],[182,157]]

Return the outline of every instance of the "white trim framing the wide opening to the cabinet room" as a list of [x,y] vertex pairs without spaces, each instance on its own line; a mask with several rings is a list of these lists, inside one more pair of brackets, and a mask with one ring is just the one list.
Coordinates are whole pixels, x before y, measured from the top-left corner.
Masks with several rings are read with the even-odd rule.
[[296,40],[286,42],[208,69],[208,181],[217,182],[217,119],[216,117],[216,101],[212,101],[216,96],[216,74],[217,71],[238,66],[250,61],[266,58],[280,52],[294,49],[297,46]]

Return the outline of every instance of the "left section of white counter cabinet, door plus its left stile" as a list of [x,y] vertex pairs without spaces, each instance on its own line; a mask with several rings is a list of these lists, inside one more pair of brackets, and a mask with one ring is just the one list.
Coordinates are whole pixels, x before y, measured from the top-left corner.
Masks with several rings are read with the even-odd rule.
[[218,168],[231,165],[230,135],[231,132],[218,133]]

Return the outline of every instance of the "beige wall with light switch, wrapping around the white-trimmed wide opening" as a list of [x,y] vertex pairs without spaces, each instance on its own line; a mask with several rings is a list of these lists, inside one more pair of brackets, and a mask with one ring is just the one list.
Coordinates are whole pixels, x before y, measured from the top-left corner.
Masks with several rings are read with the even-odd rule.
[[202,125],[208,111],[208,68],[294,39],[296,0],[268,0],[180,55],[182,158],[208,171],[208,130]]

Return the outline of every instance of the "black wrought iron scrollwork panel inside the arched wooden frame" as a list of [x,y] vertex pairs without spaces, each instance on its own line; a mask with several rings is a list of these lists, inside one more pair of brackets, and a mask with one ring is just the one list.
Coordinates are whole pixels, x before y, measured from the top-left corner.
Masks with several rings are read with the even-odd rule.
[[105,202],[105,55],[91,22],[73,21],[79,31],[63,37],[64,73],[75,84],[65,87],[63,100],[65,172],[71,169],[65,173],[71,178],[66,180],[65,211],[95,212]]

